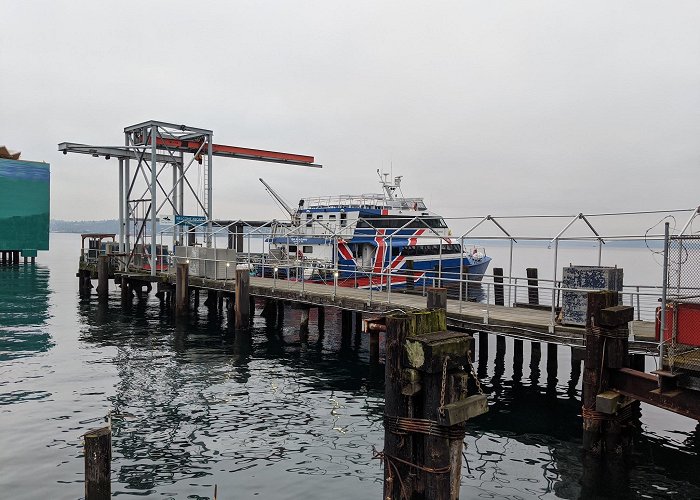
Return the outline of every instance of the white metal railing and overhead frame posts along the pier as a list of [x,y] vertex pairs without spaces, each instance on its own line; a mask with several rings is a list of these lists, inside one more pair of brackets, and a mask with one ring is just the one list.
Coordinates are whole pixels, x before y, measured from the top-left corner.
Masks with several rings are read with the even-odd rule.
[[[692,212],[692,217],[697,213],[696,209],[684,211]],[[553,330],[557,325],[557,315],[562,302],[562,294],[587,291],[587,289],[565,288],[563,286],[559,275],[559,260],[563,244],[571,242],[595,244],[595,251],[591,252],[590,255],[586,254],[586,257],[580,260],[586,261],[586,264],[600,266],[603,248],[607,243],[637,241],[646,242],[648,246],[649,242],[660,242],[663,240],[663,235],[652,233],[649,229],[644,231],[644,226],[637,232],[628,230],[623,234],[620,234],[619,231],[604,234],[602,230],[596,228],[596,225],[600,224],[602,220],[615,219],[615,224],[618,227],[628,227],[618,223],[618,219],[641,217],[643,215],[655,218],[659,214],[672,212],[683,211],[649,211],[617,214],[579,213],[572,216],[517,215],[495,217],[488,215],[486,217],[450,219],[451,224],[473,224],[458,237],[451,236],[447,228],[428,227],[426,224],[423,228],[423,234],[413,234],[410,238],[414,240],[414,244],[437,245],[437,252],[431,256],[436,265],[431,269],[418,268],[410,270],[403,264],[395,265],[401,254],[392,251],[395,247],[394,240],[407,238],[407,235],[402,234],[402,232],[406,233],[409,229],[415,228],[417,224],[415,221],[419,219],[418,217],[407,219],[403,226],[385,229],[383,230],[384,234],[377,235],[375,238],[377,245],[381,244],[384,247],[384,251],[388,252],[389,255],[389,258],[385,259],[385,262],[380,263],[380,265],[376,265],[375,262],[366,258],[363,260],[363,257],[367,256],[357,255],[353,257],[358,261],[358,267],[343,266],[338,258],[338,245],[353,236],[358,223],[362,223],[364,228],[375,228],[376,221],[381,220],[379,218],[362,218],[354,222],[347,222],[346,225],[341,225],[340,221],[330,223],[330,221],[324,222],[314,219],[310,221],[302,220],[299,225],[292,225],[291,221],[271,220],[252,226],[245,221],[237,220],[227,224],[205,221],[194,226],[169,227],[160,231],[161,244],[164,241],[169,241],[164,238],[171,233],[173,241],[179,238],[179,241],[176,241],[178,243],[185,243],[190,238],[201,243],[178,245],[174,251],[163,251],[157,255],[157,258],[159,262],[166,263],[162,272],[168,272],[169,266],[176,260],[186,259],[200,264],[199,267],[202,269],[200,272],[206,277],[227,280],[232,277],[229,275],[231,267],[247,264],[252,269],[255,269],[257,274],[272,277],[275,281],[275,286],[280,281],[288,281],[289,286],[294,282],[300,282],[301,286],[304,287],[307,281],[314,281],[332,285],[334,287],[333,293],[338,287],[365,288],[368,291],[370,301],[384,300],[391,302],[392,293],[396,293],[398,290],[406,293],[425,293],[427,286],[440,284],[450,289],[451,298],[457,299],[458,307],[462,310],[466,302],[472,301],[493,305],[496,301],[496,291],[498,291],[499,303],[502,297],[503,304],[506,307],[527,303],[529,291],[533,287],[528,283],[530,278],[514,272],[514,251],[519,243],[539,242],[542,245],[546,245],[548,250],[551,250],[551,275],[538,278],[536,289],[538,290],[540,306],[548,307],[550,310],[550,327]],[[533,236],[532,234],[517,235],[506,229],[506,221],[515,219],[518,219],[519,223],[523,220],[553,221],[555,223],[563,220],[565,223],[563,228],[559,226],[559,229],[555,228],[549,234],[546,234],[547,231],[545,231],[545,234],[541,236]],[[580,226],[589,234],[571,234],[577,221],[581,221]],[[594,225],[594,221],[596,221],[596,225]],[[309,229],[307,224],[311,224],[311,229]],[[658,223],[655,226],[658,226]],[[687,226],[688,224],[686,224]],[[495,229],[495,235],[488,234],[486,229],[489,227]],[[488,273],[480,274],[479,276],[469,276],[467,266],[470,263],[470,254],[464,250],[467,248],[467,243],[475,243],[474,238],[477,238],[477,229],[481,231],[477,240],[481,244],[488,242],[493,242],[496,245],[507,243],[507,260],[504,260],[498,266],[503,268],[502,277]],[[295,245],[302,247],[304,245],[306,236],[322,237],[326,248],[329,250],[327,255],[315,257],[308,253],[300,252],[297,254],[296,252],[291,252],[290,247]],[[272,238],[275,238],[278,242],[285,242],[286,244],[281,246],[285,247],[287,251],[279,251],[279,248],[276,248],[276,245],[272,243]],[[225,240],[225,242],[222,240]],[[237,242],[234,245],[236,247],[235,250],[230,248],[232,240]],[[459,244],[462,251],[457,254],[449,253],[445,250],[449,244]],[[165,245],[160,248],[164,249]],[[196,249],[206,250],[198,251]],[[543,248],[542,251],[547,251],[547,249]],[[224,252],[220,252],[220,250]],[[227,250],[231,252],[227,253]],[[136,255],[134,254],[134,256]],[[583,255],[583,253],[581,252],[580,255]],[[150,262],[152,259],[150,259],[148,251],[145,251],[140,255],[140,258],[134,258],[133,260],[140,260],[141,266],[143,266],[144,262]],[[417,257],[413,259],[404,258],[403,260],[413,260],[415,264],[421,261]],[[507,267],[503,264],[507,264]],[[494,263],[491,265],[493,266]],[[129,262],[129,268],[138,269],[138,267],[137,262]],[[494,278],[497,278],[499,282]],[[663,292],[663,286],[659,283],[661,280],[658,278],[660,276],[650,276],[650,283],[625,284],[619,290],[622,303],[635,308],[635,318],[637,320],[656,320]],[[700,287],[700,283],[698,283],[698,287]],[[687,288],[687,293],[698,292],[698,289],[694,287]]]

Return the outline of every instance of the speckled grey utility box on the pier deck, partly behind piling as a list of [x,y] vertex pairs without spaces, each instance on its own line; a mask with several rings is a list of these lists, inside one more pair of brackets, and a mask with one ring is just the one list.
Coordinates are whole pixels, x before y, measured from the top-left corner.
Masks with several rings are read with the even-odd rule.
[[[586,325],[588,292],[609,290],[621,292],[623,286],[622,268],[601,266],[569,266],[564,268],[562,278],[562,323],[566,325]],[[574,290],[566,290],[573,288]],[[576,289],[581,289],[578,291]]]

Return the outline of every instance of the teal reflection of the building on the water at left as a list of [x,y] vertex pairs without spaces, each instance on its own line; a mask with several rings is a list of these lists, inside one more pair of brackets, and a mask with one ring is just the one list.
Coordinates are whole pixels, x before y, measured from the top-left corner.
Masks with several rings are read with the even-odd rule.
[[46,327],[49,274],[33,265],[0,266],[0,362],[53,347]]

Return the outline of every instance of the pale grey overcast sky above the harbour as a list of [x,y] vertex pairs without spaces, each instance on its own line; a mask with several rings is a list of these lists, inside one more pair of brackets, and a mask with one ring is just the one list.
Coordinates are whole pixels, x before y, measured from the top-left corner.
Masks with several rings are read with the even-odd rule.
[[155,119],[323,169],[216,159],[218,218],[376,191],[445,216],[700,203],[700,3],[0,0],[0,144],[52,167],[52,218],[117,217],[121,144]]

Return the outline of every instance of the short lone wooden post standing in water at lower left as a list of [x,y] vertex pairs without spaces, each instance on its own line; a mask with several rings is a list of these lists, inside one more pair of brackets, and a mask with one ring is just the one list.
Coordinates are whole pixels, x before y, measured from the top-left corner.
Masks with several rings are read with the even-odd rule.
[[85,440],[85,500],[105,500],[112,496],[112,429],[102,427],[83,435]]

